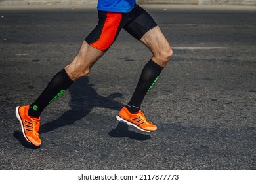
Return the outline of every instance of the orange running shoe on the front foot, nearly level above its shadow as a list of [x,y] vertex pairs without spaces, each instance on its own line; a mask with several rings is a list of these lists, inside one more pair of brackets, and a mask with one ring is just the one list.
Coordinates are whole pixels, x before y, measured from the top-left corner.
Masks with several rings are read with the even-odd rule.
[[126,107],[123,107],[120,110],[119,114],[116,116],[116,118],[119,122],[125,122],[128,125],[133,125],[134,127],[137,127],[137,129],[141,131],[150,132],[150,131],[156,131],[156,129],[158,129],[156,125],[146,120],[146,117],[144,116],[141,110],[133,114],[129,112],[129,110]]

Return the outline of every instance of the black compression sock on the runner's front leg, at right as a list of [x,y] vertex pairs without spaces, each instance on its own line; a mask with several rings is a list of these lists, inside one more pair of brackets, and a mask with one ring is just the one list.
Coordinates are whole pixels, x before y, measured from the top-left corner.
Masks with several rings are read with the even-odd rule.
[[150,61],[148,61],[148,63],[146,63],[140,75],[139,82],[135,88],[135,92],[131,97],[131,101],[129,101],[128,103],[128,105],[131,106],[127,107],[129,112],[134,112],[135,109],[137,109],[138,111],[140,109],[140,105],[146,93],[148,93],[150,89],[154,86],[162,70],[163,67],[161,67],[151,59]]

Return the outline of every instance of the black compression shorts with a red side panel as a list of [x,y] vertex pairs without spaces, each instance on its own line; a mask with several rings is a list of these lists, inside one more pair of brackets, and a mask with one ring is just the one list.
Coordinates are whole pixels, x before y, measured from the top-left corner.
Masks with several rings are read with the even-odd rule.
[[135,5],[133,10],[127,13],[98,11],[98,25],[85,38],[85,41],[104,52],[116,40],[121,29],[125,29],[140,40],[146,32],[156,26],[150,14],[139,5]]

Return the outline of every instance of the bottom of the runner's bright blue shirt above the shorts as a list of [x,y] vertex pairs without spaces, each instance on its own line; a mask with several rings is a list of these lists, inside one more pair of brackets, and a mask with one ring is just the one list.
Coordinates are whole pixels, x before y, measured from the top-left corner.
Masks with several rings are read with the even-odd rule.
[[106,12],[130,12],[136,0],[98,0],[97,9]]

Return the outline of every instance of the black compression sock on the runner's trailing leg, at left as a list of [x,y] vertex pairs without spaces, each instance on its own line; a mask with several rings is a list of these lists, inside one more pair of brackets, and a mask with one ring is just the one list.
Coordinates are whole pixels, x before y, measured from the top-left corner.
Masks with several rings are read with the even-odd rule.
[[37,100],[30,105],[28,115],[38,118],[45,107],[60,97],[72,83],[73,81],[70,79],[70,76],[68,76],[65,69],[62,69],[53,76],[45,90],[43,90]]

